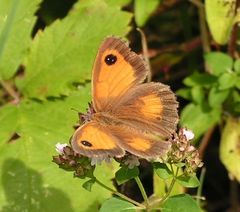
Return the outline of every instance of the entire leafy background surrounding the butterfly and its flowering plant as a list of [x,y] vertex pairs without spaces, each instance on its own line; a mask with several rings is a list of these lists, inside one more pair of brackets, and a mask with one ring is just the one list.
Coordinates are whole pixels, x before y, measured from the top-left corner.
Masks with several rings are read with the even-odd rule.
[[[237,211],[240,181],[238,0],[0,0],[1,211],[97,211],[111,194],[51,163],[91,100],[91,68],[108,35],[142,52],[152,80],[180,102],[180,126],[195,133],[205,162],[202,207]],[[164,185],[145,163],[148,195]],[[98,166],[111,184],[116,165]],[[154,178],[153,178],[154,175]],[[154,180],[152,180],[154,179]],[[122,192],[139,200],[130,183]],[[182,193],[175,187],[175,194]],[[195,194],[194,190],[187,190]]]

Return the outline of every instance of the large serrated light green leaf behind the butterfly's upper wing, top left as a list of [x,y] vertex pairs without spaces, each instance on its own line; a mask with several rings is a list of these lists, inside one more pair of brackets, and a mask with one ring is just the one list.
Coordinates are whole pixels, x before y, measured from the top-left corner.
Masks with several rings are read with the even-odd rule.
[[100,42],[109,35],[126,35],[130,19],[129,13],[102,0],[78,1],[64,19],[37,34],[18,88],[35,98],[68,94],[73,82],[90,79]]

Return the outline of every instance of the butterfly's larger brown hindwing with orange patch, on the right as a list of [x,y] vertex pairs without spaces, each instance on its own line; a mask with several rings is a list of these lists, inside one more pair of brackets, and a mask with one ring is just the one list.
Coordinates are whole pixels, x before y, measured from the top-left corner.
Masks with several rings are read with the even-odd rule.
[[175,94],[168,86],[145,83],[125,95],[114,115],[133,128],[169,137],[178,122],[177,108]]

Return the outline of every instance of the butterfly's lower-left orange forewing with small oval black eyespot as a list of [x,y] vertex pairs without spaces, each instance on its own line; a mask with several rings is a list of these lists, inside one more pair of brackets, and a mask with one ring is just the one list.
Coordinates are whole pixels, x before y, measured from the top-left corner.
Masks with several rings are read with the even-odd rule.
[[122,157],[125,151],[118,139],[99,123],[91,121],[79,127],[71,140],[75,152],[87,157]]

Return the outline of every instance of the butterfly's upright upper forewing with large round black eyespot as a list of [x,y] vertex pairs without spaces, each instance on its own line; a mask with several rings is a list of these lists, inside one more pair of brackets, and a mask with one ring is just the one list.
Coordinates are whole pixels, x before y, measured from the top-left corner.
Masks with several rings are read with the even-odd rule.
[[146,78],[144,60],[127,43],[108,37],[99,48],[92,76],[93,106],[97,112],[114,110],[120,99]]

